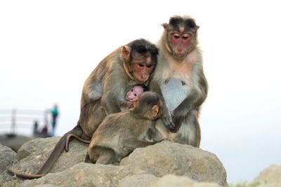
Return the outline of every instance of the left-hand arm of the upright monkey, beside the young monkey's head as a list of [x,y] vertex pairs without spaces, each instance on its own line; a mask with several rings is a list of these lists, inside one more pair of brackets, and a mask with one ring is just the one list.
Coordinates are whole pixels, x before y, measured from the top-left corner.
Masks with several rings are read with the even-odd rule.
[[166,127],[168,127],[169,129],[174,129],[175,124],[172,120],[173,117],[173,113],[171,113],[169,111],[168,106],[166,106],[166,102],[165,99],[163,97],[162,91],[160,89],[159,83],[157,83],[158,81],[151,81],[150,85],[149,85],[149,89],[152,92],[157,92],[157,94],[159,95],[159,97],[162,99],[163,102],[163,109],[162,109],[162,117],[161,120],[164,123],[164,125]]

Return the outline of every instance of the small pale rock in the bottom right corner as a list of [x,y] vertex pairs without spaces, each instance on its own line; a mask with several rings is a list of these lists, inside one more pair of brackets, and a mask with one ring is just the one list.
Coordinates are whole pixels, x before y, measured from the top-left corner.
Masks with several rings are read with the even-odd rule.
[[270,165],[254,179],[249,186],[281,186],[281,166]]

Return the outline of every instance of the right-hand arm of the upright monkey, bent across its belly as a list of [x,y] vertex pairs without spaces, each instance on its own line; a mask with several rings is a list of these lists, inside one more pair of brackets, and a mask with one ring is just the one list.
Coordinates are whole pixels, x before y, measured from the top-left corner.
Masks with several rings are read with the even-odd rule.
[[200,79],[197,83],[198,88],[193,89],[190,92],[190,95],[186,97],[183,102],[176,109],[174,109],[174,123],[176,128],[174,131],[177,131],[180,126],[180,121],[188,114],[191,109],[199,109],[202,103],[205,101],[208,92],[208,84],[207,80],[203,74],[201,73]]

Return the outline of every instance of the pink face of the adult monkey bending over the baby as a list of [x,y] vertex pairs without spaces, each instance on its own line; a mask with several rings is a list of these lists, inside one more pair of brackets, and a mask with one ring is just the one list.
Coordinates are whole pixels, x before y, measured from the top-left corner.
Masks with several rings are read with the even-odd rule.
[[152,64],[150,57],[145,60],[136,60],[133,62],[133,77],[138,83],[145,83],[150,78],[150,74],[155,65]]

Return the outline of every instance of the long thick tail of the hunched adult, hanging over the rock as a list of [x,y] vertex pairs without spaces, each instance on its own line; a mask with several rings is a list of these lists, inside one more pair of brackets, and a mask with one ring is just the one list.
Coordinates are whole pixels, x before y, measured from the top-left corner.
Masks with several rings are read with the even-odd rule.
[[36,174],[26,174],[18,172],[18,170],[13,168],[8,168],[8,172],[11,172],[15,174],[16,176],[20,176],[23,179],[37,179],[41,176],[44,176],[48,173],[48,171],[53,167],[53,164],[55,161],[60,157],[61,153],[63,153],[63,150],[65,149],[65,144],[67,141],[67,136],[69,134],[75,134],[77,137],[81,137],[83,132],[81,130],[81,127],[79,125],[75,126],[73,130],[70,130],[70,132],[67,132],[63,135],[63,137],[60,138],[58,143],[55,145],[55,148],[53,149],[51,155],[49,155],[48,159],[44,162],[44,164],[40,167],[39,171]]

